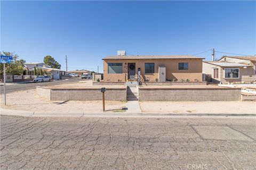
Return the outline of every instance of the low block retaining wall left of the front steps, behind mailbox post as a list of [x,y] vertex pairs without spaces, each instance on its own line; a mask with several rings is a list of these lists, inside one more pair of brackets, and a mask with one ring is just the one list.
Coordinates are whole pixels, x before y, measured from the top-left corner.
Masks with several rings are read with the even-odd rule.
[[[106,88],[105,100],[125,101],[126,88]],[[37,94],[49,100],[102,100],[100,88],[50,89],[36,87]]]

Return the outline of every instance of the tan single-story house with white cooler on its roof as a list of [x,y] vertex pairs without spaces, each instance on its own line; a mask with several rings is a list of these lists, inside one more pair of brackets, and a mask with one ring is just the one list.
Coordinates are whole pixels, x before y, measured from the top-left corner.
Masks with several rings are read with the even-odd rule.
[[118,51],[117,56],[102,58],[103,80],[202,81],[203,59],[188,55],[126,56],[125,51]]

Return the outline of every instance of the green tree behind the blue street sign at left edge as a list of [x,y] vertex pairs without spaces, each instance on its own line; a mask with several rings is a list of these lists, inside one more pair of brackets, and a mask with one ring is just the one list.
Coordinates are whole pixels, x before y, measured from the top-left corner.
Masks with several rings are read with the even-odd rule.
[[[24,60],[18,60],[19,56],[17,54],[13,54],[10,52],[0,52],[1,55],[6,55],[6,56],[13,56],[12,63],[10,64],[5,64],[5,69],[6,73],[11,73],[14,75],[22,75],[24,71]],[[0,67],[0,73],[3,75],[4,69],[3,69],[3,64],[1,64]]]

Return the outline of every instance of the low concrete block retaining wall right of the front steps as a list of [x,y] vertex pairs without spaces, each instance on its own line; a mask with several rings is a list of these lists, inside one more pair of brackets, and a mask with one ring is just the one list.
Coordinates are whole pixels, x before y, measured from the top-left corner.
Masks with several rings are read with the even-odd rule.
[[139,101],[239,101],[241,89],[141,89]]

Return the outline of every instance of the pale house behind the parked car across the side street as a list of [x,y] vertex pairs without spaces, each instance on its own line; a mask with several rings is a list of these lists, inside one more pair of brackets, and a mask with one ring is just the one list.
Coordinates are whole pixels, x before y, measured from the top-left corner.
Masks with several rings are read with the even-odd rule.
[[[25,63],[26,75],[35,75],[34,70],[35,67],[37,69],[42,69],[47,72],[47,75],[51,75],[52,79],[59,80],[61,79],[61,75],[65,75],[65,71],[60,69],[53,69],[49,65],[45,63]],[[29,73],[28,73],[29,72]]]

